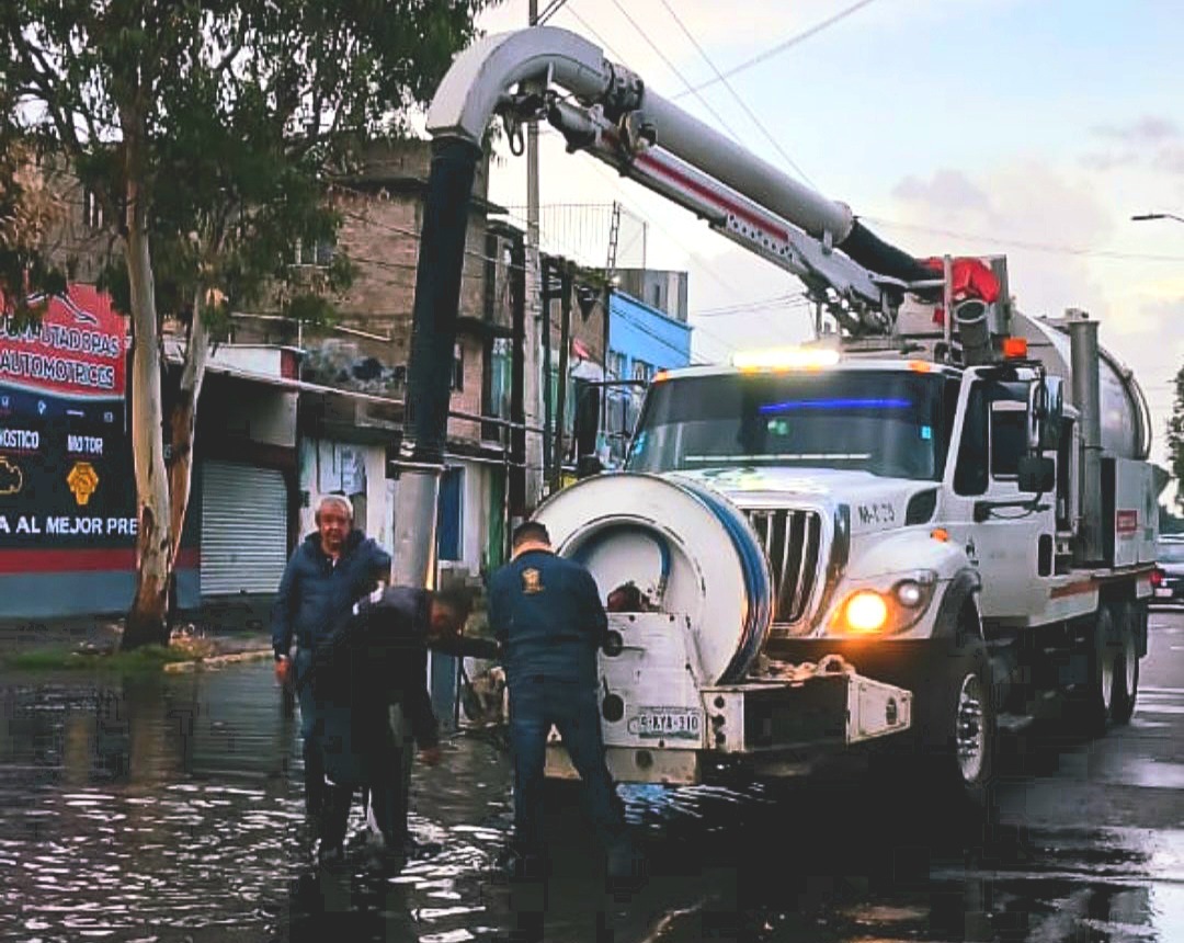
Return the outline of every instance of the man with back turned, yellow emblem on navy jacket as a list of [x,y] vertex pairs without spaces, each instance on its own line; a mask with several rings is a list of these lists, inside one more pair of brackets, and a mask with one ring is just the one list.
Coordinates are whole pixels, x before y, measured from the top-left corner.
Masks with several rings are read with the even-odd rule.
[[580,775],[588,814],[611,859],[628,853],[624,816],[605,765],[597,650],[609,622],[592,575],[551,547],[535,521],[514,532],[513,559],[489,584],[489,622],[502,642],[514,753],[514,851],[532,868],[542,853],[547,734],[554,724]]

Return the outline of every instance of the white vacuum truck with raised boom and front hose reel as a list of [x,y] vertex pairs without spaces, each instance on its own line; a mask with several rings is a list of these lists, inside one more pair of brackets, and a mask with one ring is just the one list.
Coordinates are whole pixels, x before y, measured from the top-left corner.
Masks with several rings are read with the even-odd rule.
[[[407,582],[432,569],[437,367],[495,115],[511,141],[548,121],[568,150],[798,277],[815,306],[811,344],[655,377],[625,470],[535,512],[612,602],[600,708],[618,781],[797,776],[887,753],[982,803],[1000,730],[1130,720],[1162,481],[1143,393],[1098,322],[1022,313],[1003,257],[882,242],[553,27],[477,43],[427,115],[395,509]],[[561,743],[548,774],[573,775]]]

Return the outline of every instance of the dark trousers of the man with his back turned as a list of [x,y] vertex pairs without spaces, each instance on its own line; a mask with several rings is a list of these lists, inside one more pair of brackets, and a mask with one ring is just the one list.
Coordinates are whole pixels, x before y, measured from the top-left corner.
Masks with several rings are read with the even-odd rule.
[[554,724],[583,782],[588,817],[605,847],[624,830],[600,736],[596,688],[587,684],[523,679],[510,684],[510,749],[514,752],[514,832],[519,852],[542,851],[542,787],[547,733]]

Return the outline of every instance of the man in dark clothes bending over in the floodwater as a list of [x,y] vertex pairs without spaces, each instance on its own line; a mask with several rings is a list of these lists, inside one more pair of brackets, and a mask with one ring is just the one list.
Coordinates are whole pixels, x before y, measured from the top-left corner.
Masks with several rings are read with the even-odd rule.
[[493,641],[461,637],[471,608],[472,597],[463,589],[392,586],[354,605],[316,647],[307,682],[321,714],[327,787],[322,860],[340,855],[359,788],[368,793],[388,858],[406,855],[404,765],[410,752],[391,708],[410,721],[420,759],[435,765],[439,736],[427,691],[427,649],[489,657],[497,648]]

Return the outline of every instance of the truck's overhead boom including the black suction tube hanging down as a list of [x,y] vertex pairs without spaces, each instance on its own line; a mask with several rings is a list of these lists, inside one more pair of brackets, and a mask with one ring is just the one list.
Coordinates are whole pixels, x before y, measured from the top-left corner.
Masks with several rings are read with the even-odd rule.
[[416,275],[407,419],[399,444],[392,582],[431,585],[469,203],[495,115],[511,141],[547,120],[593,156],[797,275],[852,334],[886,334],[906,291],[933,287],[912,256],[826,199],[648,89],[566,30],[536,26],[463,52],[427,111],[432,167]]

